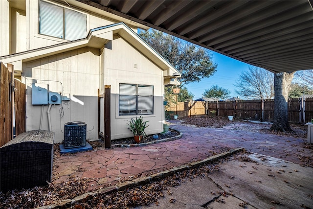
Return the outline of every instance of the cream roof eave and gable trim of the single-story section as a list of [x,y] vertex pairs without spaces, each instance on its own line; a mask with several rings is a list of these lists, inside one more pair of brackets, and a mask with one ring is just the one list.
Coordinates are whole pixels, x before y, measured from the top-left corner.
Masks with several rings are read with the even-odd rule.
[[12,55],[0,57],[0,61],[4,64],[11,63],[14,65],[14,71],[22,72],[22,63],[28,62],[47,56],[59,54],[69,50],[74,50],[82,47],[102,48],[109,41],[113,40],[113,35],[119,35],[130,43],[134,48],[143,53],[147,58],[152,60],[160,69],[164,71],[164,77],[174,78],[174,73],[181,73],[173,67],[167,60],[159,55],[151,46],[143,41],[130,27],[125,23],[115,23],[103,27],[91,29],[86,38],[61,43],[53,46],[46,46],[38,49],[32,49],[24,52],[19,52]]

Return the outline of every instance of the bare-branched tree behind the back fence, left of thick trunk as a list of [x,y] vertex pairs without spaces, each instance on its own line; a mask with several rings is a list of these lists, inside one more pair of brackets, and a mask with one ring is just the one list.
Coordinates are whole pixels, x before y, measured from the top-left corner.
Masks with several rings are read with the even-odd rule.
[[252,99],[271,99],[274,96],[273,73],[257,67],[249,67],[239,76],[234,86],[236,93]]

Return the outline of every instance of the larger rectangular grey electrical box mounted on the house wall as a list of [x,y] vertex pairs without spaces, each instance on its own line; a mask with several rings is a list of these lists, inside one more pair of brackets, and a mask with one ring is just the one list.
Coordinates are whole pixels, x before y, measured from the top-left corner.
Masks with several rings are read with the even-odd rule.
[[49,85],[42,83],[32,83],[31,98],[33,105],[47,105]]

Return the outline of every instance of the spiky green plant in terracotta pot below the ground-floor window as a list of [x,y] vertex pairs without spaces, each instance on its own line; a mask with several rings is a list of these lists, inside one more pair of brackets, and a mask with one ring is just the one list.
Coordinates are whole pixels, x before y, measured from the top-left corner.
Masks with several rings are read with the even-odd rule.
[[141,138],[147,136],[145,129],[149,126],[147,125],[148,121],[143,121],[143,118],[140,116],[139,118],[136,117],[135,119],[132,118],[131,121],[128,120],[128,129],[131,130],[134,134],[134,141],[136,143],[140,143]]

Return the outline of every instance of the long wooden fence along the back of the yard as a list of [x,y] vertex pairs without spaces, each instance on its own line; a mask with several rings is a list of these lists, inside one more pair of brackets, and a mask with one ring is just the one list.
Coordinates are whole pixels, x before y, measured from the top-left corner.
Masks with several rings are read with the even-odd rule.
[[[236,118],[272,122],[274,99],[219,102],[177,102],[166,116],[235,116]],[[313,117],[313,98],[292,98],[288,101],[288,118],[291,123],[307,123]]]

